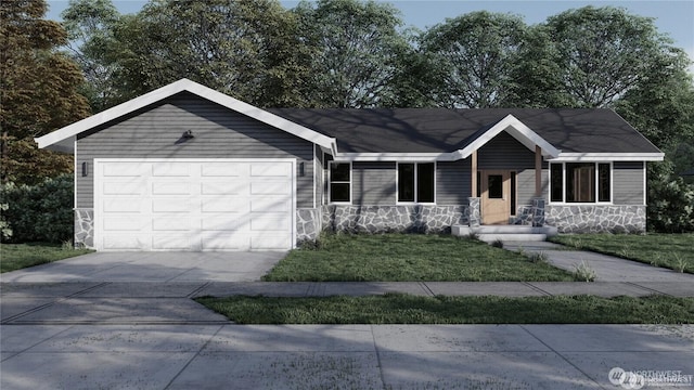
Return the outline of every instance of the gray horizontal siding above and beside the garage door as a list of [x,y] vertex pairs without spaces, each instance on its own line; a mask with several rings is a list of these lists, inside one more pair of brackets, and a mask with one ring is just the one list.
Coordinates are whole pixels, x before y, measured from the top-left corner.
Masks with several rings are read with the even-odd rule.
[[[192,130],[194,139],[177,141]],[[180,93],[116,122],[105,123],[77,141],[77,207],[93,207],[94,158],[296,158],[297,207],[313,207],[313,144],[245,115]]]

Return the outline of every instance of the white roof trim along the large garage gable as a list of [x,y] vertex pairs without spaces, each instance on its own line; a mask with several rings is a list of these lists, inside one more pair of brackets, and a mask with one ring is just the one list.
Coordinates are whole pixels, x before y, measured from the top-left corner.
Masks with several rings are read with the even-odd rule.
[[36,138],[39,148],[50,148],[60,152],[72,152],[75,147],[75,140],[77,135],[83,131],[90,130],[97,126],[106,123],[111,120],[117,119],[124,115],[130,114],[140,108],[146,107],[150,104],[159,102],[166,98],[172,96],[179,92],[188,91],[196,94],[203,99],[220,104],[227,108],[235,110],[240,114],[246,115],[250,118],[257,119],[264,123],[275,127],[280,130],[284,130],[290,134],[299,136],[306,141],[321,145],[322,147],[336,151],[336,141],[333,138],[323,135],[311,129],[297,125],[293,121],[286,120],[274,114],[270,114],[265,109],[253,106],[248,103],[244,103],[240,100],[226,95],[221,92],[215,91],[211,88],[207,88],[197,82],[189,79],[180,79],[168,86],[164,86],[152,92],[145,93],[142,96],[136,98],[128,102],[121,103],[115,107],[111,107],[99,114],[94,114],[80,121],[66,126],[62,129],[55,130],[43,136]]

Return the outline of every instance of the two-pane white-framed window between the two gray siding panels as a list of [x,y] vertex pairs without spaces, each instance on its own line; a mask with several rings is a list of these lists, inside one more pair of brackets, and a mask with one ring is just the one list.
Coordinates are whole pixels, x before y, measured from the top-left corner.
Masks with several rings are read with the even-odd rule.
[[398,164],[398,202],[434,203],[434,162]]

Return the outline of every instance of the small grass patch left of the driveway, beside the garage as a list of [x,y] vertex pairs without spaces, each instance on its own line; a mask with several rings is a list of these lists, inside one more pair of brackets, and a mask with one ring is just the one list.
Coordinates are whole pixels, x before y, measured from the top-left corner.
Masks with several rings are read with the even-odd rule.
[[92,251],[90,249],[73,249],[60,244],[2,244],[0,245],[0,272],[44,264]]

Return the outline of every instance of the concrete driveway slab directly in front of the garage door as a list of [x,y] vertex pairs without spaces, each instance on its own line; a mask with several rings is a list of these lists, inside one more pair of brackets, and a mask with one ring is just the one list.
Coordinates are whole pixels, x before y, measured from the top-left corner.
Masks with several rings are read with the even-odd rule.
[[26,282],[254,282],[284,251],[261,252],[93,252],[0,275]]

